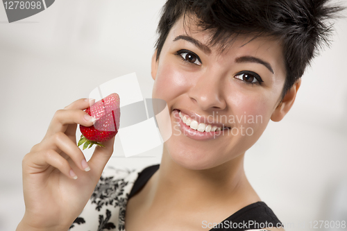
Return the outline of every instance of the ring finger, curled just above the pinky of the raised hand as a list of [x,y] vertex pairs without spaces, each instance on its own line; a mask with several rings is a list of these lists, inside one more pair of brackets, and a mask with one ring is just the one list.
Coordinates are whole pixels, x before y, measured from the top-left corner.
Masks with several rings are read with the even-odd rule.
[[[85,156],[76,143],[73,142],[65,133],[58,132],[51,136],[49,139],[45,139],[41,144],[42,149],[54,149],[55,151],[62,151],[83,171],[90,171]],[[66,159],[66,158],[65,158]]]

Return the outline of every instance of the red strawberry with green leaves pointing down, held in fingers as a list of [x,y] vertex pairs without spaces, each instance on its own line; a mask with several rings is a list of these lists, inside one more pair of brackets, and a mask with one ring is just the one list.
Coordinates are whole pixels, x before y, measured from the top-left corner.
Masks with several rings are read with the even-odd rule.
[[105,142],[118,132],[119,128],[119,95],[112,93],[109,96],[97,101],[90,108],[85,110],[90,116],[96,119],[94,125],[85,127],[80,125],[81,139],[78,142],[78,146],[83,144],[83,150],[85,148],[91,148],[93,144],[103,146],[99,142]]

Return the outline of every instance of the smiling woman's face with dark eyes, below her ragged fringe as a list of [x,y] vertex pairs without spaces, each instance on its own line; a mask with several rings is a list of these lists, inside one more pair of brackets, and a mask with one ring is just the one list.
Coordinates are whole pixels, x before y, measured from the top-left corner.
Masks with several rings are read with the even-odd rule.
[[[210,33],[188,27],[181,17],[158,62],[152,60],[153,98],[166,101],[170,112],[167,154],[186,168],[209,169],[243,154],[262,135],[280,102],[285,62],[277,40],[238,37],[219,53],[218,46],[205,46]],[[195,121],[188,126],[189,120]]]

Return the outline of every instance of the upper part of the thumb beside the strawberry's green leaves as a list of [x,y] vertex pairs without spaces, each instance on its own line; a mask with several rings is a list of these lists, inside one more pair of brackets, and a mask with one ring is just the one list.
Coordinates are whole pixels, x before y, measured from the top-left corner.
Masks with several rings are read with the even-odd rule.
[[108,160],[110,160],[110,157],[112,156],[115,137],[108,140],[107,142],[103,142],[102,144],[105,147],[96,146],[94,153],[90,158],[90,161],[88,162],[92,171],[95,171],[96,175],[100,176],[106,164],[108,163]]

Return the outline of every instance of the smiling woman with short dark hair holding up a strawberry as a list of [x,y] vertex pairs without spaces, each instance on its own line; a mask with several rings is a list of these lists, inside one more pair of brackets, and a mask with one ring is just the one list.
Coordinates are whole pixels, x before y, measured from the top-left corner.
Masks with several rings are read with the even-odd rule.
[[153,98],[167,102],[174,131],[160,166],[100,178],[114,139],[87,162],[76,126],[92,125],[90,102],[75,101],[24,157],[17,230],[283,230],[246,179],[244,154],[290,110],[327,39],[324,20],[339,10],[313,0],[167,1],[151,63]]

